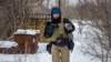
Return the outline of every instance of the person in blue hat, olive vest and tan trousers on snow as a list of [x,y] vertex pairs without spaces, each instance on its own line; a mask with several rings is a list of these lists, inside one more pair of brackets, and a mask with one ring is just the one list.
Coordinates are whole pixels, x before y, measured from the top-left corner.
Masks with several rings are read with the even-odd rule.
[[51,41],[51,48],[47,50],[52,54],[52,62],[70,62],[68,46],[69,33],[74,30],[74,25],[61,18],[61,10],[58,7],[51,9],[51,22],[44,29],[46,41]]

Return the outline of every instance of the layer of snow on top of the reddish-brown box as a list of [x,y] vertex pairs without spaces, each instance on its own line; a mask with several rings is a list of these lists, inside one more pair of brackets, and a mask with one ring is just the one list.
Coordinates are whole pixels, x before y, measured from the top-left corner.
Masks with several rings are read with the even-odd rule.
[[14,32],[14,34],[37,34],[40,33],[40,30],[32,30],[32,29],[28,29],[28,30],[23,30],[23,29],[19,29],[17,30],[17,32]]

